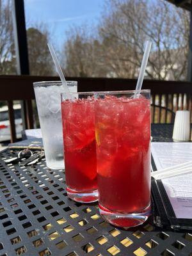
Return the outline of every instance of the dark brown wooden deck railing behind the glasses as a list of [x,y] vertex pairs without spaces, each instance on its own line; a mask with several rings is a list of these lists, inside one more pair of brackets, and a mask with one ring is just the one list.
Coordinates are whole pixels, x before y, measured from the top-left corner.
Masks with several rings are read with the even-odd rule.
[[[0,100],[8,102],[12,141],[16,140],[13,100],[24,100],[26,128],[32,129],[33,82],[56,80],[58,77],[0,76]],[[134,90],[136,86],[135,79],[67,77],[67,80],[77,81],[79,92]],[[142,88],[151,90],[152,123],[172,123],[175,111],[192,108],[192,83],[145,80]]]

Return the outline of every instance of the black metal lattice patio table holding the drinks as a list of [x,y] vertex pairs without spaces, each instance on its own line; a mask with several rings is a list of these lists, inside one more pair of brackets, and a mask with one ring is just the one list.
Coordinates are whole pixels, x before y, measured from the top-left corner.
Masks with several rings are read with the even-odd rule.
[[[173,125],[152,125],[154,141],[172,141]],[[192,255],[192,230],[157,228],[152,216],[123,230],[100,217],[97,204],[68,199],[64,171],[5,164],[0,152],[0,256]],[[127,198],[128,199],[128,198]]]

